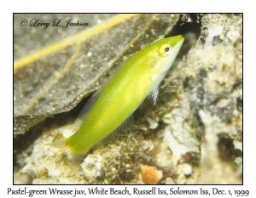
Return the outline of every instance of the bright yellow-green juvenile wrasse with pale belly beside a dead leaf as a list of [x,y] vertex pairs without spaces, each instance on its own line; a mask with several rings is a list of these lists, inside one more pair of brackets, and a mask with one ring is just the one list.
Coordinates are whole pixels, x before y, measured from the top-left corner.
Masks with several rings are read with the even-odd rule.
[[76,133],[61,141],[75,156],[113,133],[151,93],[157,99],[160,82],[171,68],[183,37],[168,37],[151,43],[126,60],[84,105]]

